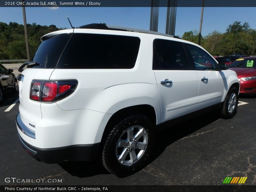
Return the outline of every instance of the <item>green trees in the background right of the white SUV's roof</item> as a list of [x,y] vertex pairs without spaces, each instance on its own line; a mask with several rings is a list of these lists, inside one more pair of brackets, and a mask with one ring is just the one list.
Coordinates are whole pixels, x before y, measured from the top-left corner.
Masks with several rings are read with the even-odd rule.
[[[182,39],[198,43],[198,35],[193,31],[185,32]],[[201,46],[212,55],[232,55],[236,52],[253,55],[256,53],[256,30],[248,22],[241,24],[235,21],[228,25],[225,33],[214,30],[204,36]]]

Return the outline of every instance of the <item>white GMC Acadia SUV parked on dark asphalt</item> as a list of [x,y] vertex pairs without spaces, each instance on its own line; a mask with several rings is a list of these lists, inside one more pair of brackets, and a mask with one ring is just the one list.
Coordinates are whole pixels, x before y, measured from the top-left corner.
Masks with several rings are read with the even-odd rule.
[[197,44],[104,24],[41,40],[19,69],[16,117],[20,142],[37,160],[99,158],[128,175],[146,162],[164,122],[214,107],[223,118],[236,114],[236,73]]

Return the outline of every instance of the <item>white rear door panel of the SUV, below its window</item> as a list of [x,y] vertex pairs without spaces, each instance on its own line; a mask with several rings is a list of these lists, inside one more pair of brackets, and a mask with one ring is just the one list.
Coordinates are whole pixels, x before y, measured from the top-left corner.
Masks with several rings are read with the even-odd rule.
[[[154,70],[161,101],[162,122],[197,110],[198,78],[190,70]],[[165,79],[172,84],[163,85]]]

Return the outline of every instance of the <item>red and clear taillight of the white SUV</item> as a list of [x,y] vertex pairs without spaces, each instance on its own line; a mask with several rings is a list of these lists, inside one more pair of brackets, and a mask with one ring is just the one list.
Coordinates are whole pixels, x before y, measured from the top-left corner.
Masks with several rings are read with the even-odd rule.
[[30,99],[41,102],[53,102],[63,99],[75,91],[76,80],[31,82]]

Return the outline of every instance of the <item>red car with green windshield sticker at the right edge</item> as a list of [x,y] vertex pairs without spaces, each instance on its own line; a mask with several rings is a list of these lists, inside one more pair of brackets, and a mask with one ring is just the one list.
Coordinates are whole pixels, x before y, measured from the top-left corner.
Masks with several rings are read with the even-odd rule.
[[240,80],[240,93],[256,94],[256,57],[243,57],[230,64]]

